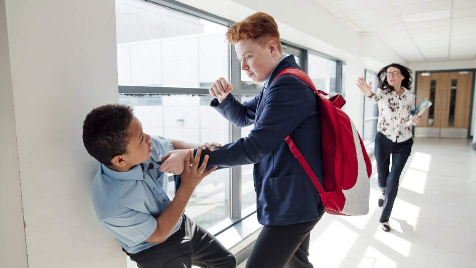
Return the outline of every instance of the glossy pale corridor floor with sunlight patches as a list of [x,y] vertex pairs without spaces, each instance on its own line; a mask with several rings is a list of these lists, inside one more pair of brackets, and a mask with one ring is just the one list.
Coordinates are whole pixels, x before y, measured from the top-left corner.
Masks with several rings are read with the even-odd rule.
[[370,212],[325,215],[311,233],[315,268],[476,267],[476,151],[470,140],[415,138],[390,218],[380,228],[373,161]]

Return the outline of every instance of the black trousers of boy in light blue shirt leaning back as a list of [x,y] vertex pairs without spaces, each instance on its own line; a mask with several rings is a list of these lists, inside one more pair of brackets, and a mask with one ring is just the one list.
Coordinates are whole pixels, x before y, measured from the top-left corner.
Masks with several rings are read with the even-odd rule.
[[141,268],[234,268],[236,259],[211,233],[183,216],[182,226],[163,243],[135,254],[126,252]]

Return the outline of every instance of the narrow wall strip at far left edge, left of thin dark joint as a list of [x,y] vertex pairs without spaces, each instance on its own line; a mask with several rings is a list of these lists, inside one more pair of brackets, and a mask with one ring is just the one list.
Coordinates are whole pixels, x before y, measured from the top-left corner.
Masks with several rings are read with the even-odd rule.
[[5,1],[0,0],[0,263],[26,267],[22,194],[18,168],[10,54],[7,42]]

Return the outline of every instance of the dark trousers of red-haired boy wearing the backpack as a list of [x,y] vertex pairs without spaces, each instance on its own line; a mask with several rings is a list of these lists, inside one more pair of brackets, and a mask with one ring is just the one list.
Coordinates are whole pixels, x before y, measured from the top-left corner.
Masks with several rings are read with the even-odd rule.
[[246,261],[246,268],[312,268],[310,231],[319,220],[264,226]]

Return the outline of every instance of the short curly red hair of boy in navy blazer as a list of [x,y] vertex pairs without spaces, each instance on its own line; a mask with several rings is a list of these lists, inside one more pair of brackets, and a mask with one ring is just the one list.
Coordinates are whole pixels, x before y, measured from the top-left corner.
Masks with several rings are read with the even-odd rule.
[[252,14],[243,21],[232,25],[226,32],[226,39],[231,44],[236,44],[242,40],[254,39],[262,46],[265,46],[268,41],[272,40],[276,43],[277,50],[282,52],[278,25],[273,17],[263,12]]

